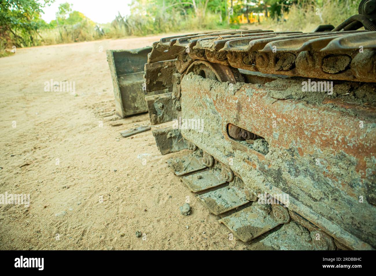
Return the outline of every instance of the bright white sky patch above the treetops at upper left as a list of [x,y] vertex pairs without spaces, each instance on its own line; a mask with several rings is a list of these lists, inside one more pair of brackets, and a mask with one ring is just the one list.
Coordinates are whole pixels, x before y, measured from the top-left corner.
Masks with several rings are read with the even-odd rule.
[[129,15],[131,0],[56,0],[51,6],[43,9],[42,19],[47,23],[55,19],[61,3],[73,4],[72,10],[82,12],[96,23],[108,23],[115,19],[118,11],[121,15]]

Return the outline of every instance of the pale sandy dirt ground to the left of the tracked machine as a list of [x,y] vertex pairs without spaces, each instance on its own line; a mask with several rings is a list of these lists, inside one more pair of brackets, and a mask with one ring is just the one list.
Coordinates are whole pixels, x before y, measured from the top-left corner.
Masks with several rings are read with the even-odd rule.
[[[105,50],[160,37],[24,48],[0,59],[0,194],[30,194],[29,207],[0,204],[0,249],[246,247],[228,239],[229,230],[167,167],[183,152],[162,156],[151,131],[120,136],[148,124],[147,114],[111,121]],[[75,81],[77,95],[45,92],[51,79]],[[185,217],[179,206],[187,196],[192,214]]]

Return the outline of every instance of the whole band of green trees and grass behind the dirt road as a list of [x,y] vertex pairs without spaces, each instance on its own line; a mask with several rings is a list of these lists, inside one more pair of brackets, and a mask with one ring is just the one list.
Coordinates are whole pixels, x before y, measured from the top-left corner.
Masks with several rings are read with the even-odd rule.
[[53,1],[0,0],[0,56],[2,49],[12,45],[236,29],[241,27],[240,17],[248,23],[256,19],[256,23],[247,26],[251,28],[307,32],[319,24],[337,26],[357,14],[359,4],[356,0],[132,0],[130,15],[118,14],[111,23],[98,26],[82,13],[85,11],[74,11],[69,3],[59,5],[56,19],[45,23],[41,19],[42,8]]

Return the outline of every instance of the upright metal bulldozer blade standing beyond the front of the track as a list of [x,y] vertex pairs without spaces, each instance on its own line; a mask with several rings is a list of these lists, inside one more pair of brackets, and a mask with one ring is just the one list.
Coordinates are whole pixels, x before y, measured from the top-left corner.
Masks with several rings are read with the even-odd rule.
[[114,85],[115,110],[120,118],[147,112],[144,65],[152,47],[107,50],[107,61]]

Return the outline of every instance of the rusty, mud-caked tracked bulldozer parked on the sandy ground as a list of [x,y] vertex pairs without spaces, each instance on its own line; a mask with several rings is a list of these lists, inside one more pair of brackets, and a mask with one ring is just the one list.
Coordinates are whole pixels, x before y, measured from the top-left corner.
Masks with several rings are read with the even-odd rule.
[[232,29],[107,51],[118,116],[253,250],[376,248],[376,1],[314,32]]

